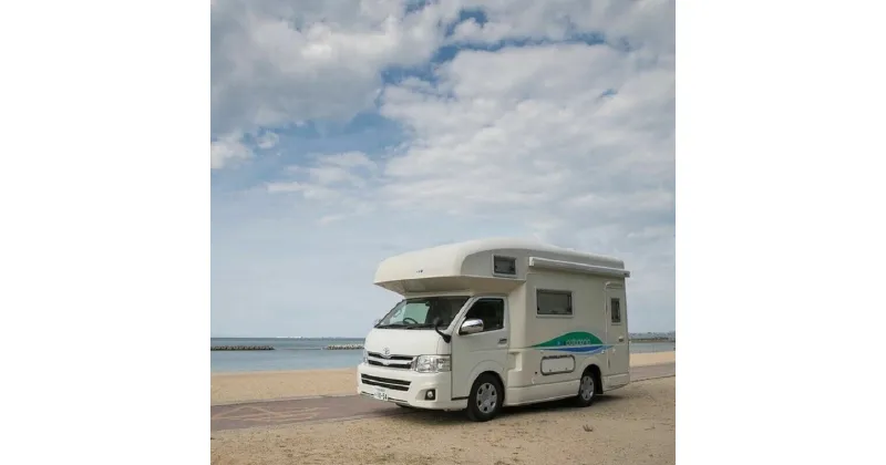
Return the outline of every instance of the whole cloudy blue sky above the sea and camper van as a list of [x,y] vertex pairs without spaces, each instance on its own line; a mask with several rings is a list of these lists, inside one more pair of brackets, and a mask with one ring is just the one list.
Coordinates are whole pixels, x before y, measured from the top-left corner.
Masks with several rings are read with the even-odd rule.
[[674,328],[673,0],[213,0],[212,333],[364,335],[398,252],[622,258]]

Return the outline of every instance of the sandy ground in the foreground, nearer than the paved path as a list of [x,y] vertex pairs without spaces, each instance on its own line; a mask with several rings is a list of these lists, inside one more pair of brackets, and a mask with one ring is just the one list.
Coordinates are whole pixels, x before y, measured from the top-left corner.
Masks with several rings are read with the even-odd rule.
[[587,409],[562,403],[507,409],[490,423],[472,423],[454,412],[420,412],[217,432],[212,463],[673,464],[674,381],[635,382]]

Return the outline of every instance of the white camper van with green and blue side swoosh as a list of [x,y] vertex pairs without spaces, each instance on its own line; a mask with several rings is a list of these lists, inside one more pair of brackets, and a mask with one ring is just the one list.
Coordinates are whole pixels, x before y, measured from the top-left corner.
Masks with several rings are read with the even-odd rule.
[[630,382],[621,260],[518,239],[391,257],[375,285],[402,300],[374,324],[357,391],[404,407],[494,418],[503,406]]

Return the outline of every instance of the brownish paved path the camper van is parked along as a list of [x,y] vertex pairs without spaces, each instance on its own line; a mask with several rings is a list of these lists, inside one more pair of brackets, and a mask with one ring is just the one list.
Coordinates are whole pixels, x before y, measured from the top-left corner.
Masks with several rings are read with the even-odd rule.
[[[674,376],[677,364],[637,366],[631,381]],[[414,414],[418,411],[359,395],[249,402],[212,406],[212,431],[239,430],[293,423],[340,422],[377,416]]]

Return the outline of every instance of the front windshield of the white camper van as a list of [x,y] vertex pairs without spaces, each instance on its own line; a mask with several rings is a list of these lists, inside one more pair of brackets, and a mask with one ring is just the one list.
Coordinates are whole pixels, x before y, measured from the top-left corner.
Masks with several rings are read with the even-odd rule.
[[421,297],[401,300],[375,328],[432,329],[434,319],[440,318],[440,327],[450,326],[467,301],[467,297]]

